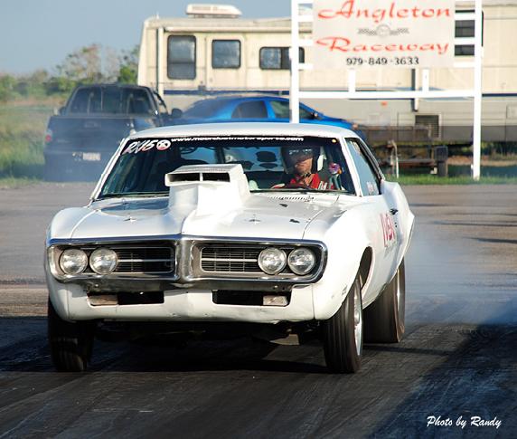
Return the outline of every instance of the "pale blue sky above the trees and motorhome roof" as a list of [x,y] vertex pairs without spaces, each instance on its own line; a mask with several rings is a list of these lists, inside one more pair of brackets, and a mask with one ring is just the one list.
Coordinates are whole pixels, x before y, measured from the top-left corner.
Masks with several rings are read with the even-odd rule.
[[234,5],[245,18],[290,14],[289,0],[0,0],[0,73],[53,72],[92,43],[132,49],[147,17],[183,17],[189,4]]

